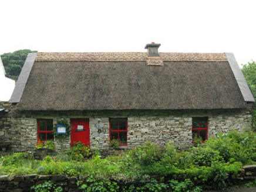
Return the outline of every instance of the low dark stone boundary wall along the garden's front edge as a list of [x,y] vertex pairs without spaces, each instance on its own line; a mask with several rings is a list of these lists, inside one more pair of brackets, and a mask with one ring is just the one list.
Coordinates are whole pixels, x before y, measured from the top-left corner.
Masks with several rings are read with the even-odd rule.
[[[242,167],[241,176],[238,180],[255,180],[256,165]],[[39,176],[31,174],[27,176],[0,176],[0,191],[32,191],[31,187],[38,184],[43,184],[45,181],[52,181],[57,187],[61,186],[63,191],[75,192],[81,191],[76,183],[78,180],[85,181],[88,176],[79,175],[78,177],[66,177],[63,175],[57,176]],[[242,190],[241,190],[242,191]]]

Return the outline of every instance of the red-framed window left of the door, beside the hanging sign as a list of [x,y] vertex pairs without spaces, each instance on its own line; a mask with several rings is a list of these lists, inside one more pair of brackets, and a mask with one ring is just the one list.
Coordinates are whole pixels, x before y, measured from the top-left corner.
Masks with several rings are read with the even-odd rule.
[[38,139],[40,140],[54,139],[52,119],[38,119]]

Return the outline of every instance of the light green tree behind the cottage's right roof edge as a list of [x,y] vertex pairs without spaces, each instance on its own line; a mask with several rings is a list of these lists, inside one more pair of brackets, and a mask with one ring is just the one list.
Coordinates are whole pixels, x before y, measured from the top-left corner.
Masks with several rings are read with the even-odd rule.
[[[254,99],[256,100],[256,63],[255,61],[248,62],[248,64],[242,65],[242,74],[244,74]],[[256,131],[256,104],[252,110],[252,126]]]

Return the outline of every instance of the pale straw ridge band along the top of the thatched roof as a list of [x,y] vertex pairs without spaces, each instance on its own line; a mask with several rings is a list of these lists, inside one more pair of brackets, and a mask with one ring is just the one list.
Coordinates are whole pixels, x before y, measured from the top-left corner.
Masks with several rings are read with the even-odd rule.
[[[225,53],[165,53],[158,59],[163,61],[227,61]],[[149,57],[143,52],[90,52],[90,53],[41,53],[36,61],[146,61]]]

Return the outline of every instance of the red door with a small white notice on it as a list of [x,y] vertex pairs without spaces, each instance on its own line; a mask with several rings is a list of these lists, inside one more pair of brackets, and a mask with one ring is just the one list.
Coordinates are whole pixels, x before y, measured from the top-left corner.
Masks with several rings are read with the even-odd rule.
[[78,142],[78,141],[85,143],[85,145],[90,146],[89,119],[88,118],[71,119],[70,123],[72,125],[71,146],[73,146],[74,142]]

